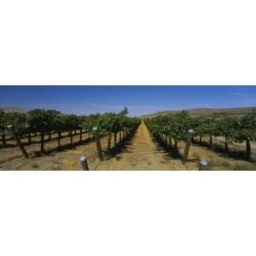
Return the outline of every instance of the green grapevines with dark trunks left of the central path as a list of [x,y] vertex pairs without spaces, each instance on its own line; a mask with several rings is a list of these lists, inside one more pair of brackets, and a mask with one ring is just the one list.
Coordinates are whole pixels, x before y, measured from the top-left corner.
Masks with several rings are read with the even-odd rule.
[[[58,141],[58,149],[61,149],[61,138],[63,133],[68,133],[70,145],[73,145],[73,135],[79,131],[80,141],[82,134],[93,132],[93,127],[98,128],[99,135],[105,136],[114,134],[114,146],[119,133],[120,137],[125,137],[139,123],[139,119],[126,116],[127,109],[120,113],[91,114],[90,116],[77,116],[74,114],[62,114],[55,110],[35,109],[28,113],[4,113],[0,110],[0,129],[2,147],[8,147],[8,141],[13,140],[12,132],[8,126],[12,125],[15,135],[27,139],[27,145],[32,144],[33,137],[40,137],[41,152],[44,152],[45,137],[51,140],[52,134],[57,134],[55,140]],[[109,136],[108,146],[111,140]]]

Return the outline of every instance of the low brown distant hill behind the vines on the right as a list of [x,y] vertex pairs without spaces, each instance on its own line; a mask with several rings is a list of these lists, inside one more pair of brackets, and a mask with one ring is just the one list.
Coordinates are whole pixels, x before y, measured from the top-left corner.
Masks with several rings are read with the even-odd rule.
[[[212,116],[212,115],[229,115],[229,116],[241,116],[246,113],[251,113],[256,107],[246,107],[246,108],[192,108],[192,109],[184,109],[188,111],[191,116]],[[165,110],[156,113],[145,114],[143,118],[152,118],[158,115],[165,115],[167,113],[178,113],[181,110]]]

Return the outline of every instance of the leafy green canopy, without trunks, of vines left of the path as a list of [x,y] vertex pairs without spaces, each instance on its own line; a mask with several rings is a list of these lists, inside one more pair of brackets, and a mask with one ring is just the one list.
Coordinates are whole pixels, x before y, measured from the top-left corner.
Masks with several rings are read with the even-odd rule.
[[5,131],[7,125],[14,125],[20,136],[27,132],[48,133],[52,131],[73,131],[83,129],[92,132],[94,126],[104,135],[118,132],[125,127],[130,129],[140,120],[127,116],[128,109],[119,113],[96,113],[89,116],[63,114],[55,110],[34,109],[28,113],[5,113],[0,109],[0,128]]

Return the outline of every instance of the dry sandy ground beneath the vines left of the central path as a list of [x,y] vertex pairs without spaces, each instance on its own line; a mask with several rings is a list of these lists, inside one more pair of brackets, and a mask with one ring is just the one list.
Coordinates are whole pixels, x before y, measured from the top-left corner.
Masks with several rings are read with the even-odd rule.
[[[51,141],[45,143],[45,150],[48,154],[37,156],[35,152],[40,150],[40,144],[32,144],[26,147],[30,156],[25,159],[20,153],[19,148],[2,148],[0,149],[0,170],[81,170],[79,163],[80,156],[85,154],[88,158],[90,170],[95,169],[98,164],[96,153],[96,144],[88,140],[87,135],[83,135],[83,143],[74,148],[67,148],[58,152],[54,148],[57,142]],[[70,139],[61,139],[61,145],[68,145]],[[73,136],[73,143],[79,142],[79,135]],[[102,137],[102,148],[107,148],[107,137]]]

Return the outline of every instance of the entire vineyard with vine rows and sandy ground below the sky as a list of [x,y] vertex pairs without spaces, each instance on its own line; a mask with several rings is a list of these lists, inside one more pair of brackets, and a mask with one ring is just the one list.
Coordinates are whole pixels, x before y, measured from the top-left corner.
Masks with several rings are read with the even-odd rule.
[[[206,170],[256,169],[254,111],[239,118],[182,111],[143,120],[127,113],[0,110],[0,169],[199,170],[201,160]],[[81,156],[89,167],[81,166]]]

